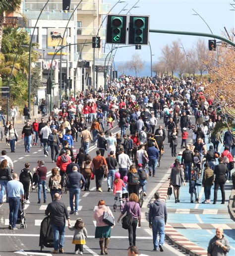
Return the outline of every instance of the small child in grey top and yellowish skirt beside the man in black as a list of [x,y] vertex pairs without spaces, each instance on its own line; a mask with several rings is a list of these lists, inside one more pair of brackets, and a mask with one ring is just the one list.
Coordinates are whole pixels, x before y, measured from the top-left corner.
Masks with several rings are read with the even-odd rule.
[[79,254],[83,255],[83,245],[86,244],[85,238],[87,238],[87,230],[84,227],[84,223],[81,218],[78,218],[75,222],[75,225],[73,227],[68,227],[69,230],[74,231],[73,235],[73,240],[72,244],[75,245],[75,252],[74,254],[78,254],[78,249],[79,249]]

